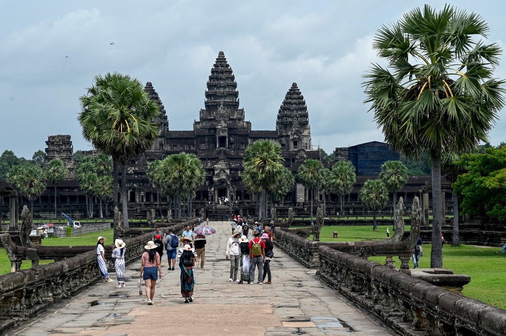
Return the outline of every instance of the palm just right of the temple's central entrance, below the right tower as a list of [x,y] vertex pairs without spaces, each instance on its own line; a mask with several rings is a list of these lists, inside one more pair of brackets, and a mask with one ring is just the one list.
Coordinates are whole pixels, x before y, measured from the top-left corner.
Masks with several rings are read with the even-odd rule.
[[245,149],[242,181],[249,192],[260,193],[259,220],[267,218],[267,190],[283,174],[283,162],[278,142],[258,140]]

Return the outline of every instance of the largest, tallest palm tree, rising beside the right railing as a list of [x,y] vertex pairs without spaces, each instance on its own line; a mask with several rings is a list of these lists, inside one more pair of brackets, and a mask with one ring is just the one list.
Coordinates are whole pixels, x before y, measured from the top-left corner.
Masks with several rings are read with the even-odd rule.
[[504,106],[504,81],[493,78],[501,49],[474,36],[489,28],[477,14],[445,5],[415,8],[382,26],[373,49],[389,67],[372,65],[364,76],[366,103],[385,139],[408,158],[428,151],[432,162],[431,267],[443,267],[441,153],[471,150]]

